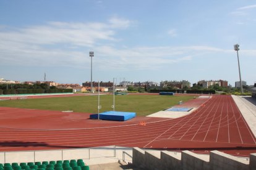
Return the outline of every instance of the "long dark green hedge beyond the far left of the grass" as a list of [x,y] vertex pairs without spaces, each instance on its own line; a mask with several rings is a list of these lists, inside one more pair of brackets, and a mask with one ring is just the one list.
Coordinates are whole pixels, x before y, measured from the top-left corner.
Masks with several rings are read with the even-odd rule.
[[43,94],[72,92],[72,89],[0,89],[0,94]]

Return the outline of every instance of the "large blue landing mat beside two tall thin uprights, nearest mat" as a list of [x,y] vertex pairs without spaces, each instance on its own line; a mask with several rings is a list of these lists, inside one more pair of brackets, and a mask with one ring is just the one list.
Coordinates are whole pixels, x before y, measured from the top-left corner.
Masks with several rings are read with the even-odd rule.
[[[100,119],[111,120],[111,121],[127,121],[135,118],[135,112],[124,112],[124,111],[106,111],[100,113]],[[90,115],[90,119],[98,119],[98,114]]]

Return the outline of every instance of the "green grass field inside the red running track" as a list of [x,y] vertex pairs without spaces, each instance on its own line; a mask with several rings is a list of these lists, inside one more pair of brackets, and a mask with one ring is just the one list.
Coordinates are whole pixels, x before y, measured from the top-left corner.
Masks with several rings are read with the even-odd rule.
[[[136,112],[138,116],[146,116],[156,111],[177,105],[192,96],[176,95],[116,95],[115,110]],[[113,110],[113,95],[100,95],[100,113]],[[54,97],[26,100],[2,100],[0,107],[36,108],[40,110],[73,110],[76,112],[98,113],[98,96]]]

